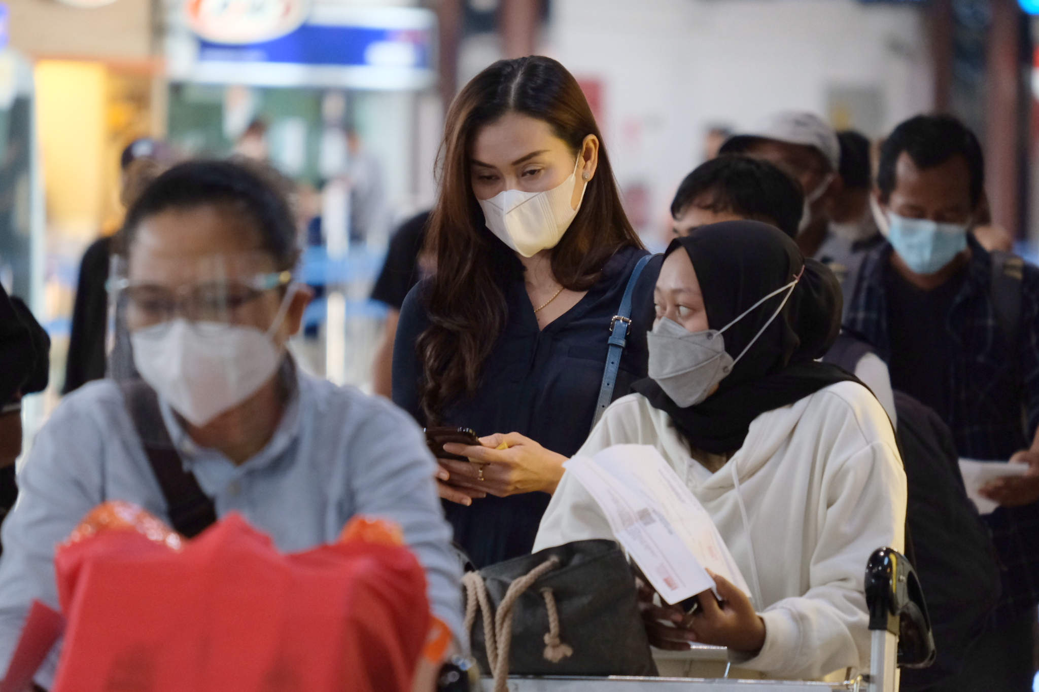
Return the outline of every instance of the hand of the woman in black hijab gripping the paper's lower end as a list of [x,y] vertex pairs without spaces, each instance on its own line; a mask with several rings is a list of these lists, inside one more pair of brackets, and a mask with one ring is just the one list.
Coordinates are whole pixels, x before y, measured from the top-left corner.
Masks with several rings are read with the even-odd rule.
[[687,618],[684,627],[696,633],[696,641],[703,644],[747,654],[761,651],[765,645],[765,620],[750,599],[724,577],[710,571],[709,574],[715,580],[721,603],[713,591],[698,594],[700,609]]

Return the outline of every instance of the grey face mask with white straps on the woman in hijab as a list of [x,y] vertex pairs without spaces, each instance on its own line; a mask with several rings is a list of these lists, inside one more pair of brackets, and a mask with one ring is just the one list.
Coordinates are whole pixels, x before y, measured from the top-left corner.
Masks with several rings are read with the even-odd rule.
[[[649,377],[683,409],[699,404],[708,397],[715,385],[728,377],[732,367],[765,333],[790,300],[800,278],[801,275],[798,274],[796,279],[773,290],[721,329],[690,332],[678,323],[663,317],[654,326],[652,331],[646,333],[646,345],[649,348]],[[736,360],[732,360],[725,351],[725,338],[722,332],[743,320],[762,303],[784,290],[787,295],[782,303],[754,338],[750,339],[750,343],[736,357]]]

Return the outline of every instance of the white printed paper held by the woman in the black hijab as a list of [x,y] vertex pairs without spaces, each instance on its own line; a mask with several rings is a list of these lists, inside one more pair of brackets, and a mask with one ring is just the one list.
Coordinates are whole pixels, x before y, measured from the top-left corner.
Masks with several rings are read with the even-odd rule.
[[711,516],[656,448],[615,445],[593,458],[575,456],[565,467],[664,601],[713,589],[707,570],[750,596]]

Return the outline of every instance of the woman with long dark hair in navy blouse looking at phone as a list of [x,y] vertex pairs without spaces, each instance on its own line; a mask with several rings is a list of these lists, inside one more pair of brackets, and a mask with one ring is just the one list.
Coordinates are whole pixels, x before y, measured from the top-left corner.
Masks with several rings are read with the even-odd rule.
[[474,463],[441,460],[437,475],[455,539],[483,565],[530,551],[595,417],[611,334],[627,336],[612,393],[645,376],[660,261],[643,260],[591,109],[551,58],[501,60],[467,84],[439,163],[435,273],[401,310],[393,398],[423,424],[485,436],[448,445]]

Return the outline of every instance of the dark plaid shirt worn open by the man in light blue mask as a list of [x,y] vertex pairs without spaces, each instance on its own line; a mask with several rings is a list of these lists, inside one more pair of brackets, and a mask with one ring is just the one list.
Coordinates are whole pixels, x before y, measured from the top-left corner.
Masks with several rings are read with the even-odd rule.
[[[1039,269],[1024,266],[1020,326],[1012,347],[992,305],[991,258],[973,236],[968,242],[974,256],[945,324],[954,354],[952,413],[945,423],[961,456],[998,462],[1031,447],[1039,425]],[[885,273],[894,271],[891,251],[884,243],[867,253],[858,280],[846,288],[851,294],[845,328],[861,335],[885,360],[900,345],[891,343],[884,288]],[[897,382],[893,386],[899,388]],[[1039,502],[1001,507],[985,520],[1003,569],[996,621],[1007,620],[1039,603]]]

